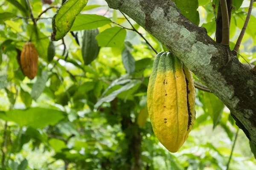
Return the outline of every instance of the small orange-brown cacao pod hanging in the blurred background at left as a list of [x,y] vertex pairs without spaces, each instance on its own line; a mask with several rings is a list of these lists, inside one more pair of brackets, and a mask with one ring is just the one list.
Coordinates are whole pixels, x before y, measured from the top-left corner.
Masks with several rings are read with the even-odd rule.
[[32,42],[26,42],[20,54],[20,65],[23,74],[34,79],[38,71],[38,53]]

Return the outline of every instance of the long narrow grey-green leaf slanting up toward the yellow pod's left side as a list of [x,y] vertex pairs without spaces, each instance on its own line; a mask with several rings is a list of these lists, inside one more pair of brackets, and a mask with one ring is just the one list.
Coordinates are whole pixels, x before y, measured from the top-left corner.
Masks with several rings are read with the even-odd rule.
[[113,99],[116,98],[116,96],[124,91],[128,91],[129,89],[133,88],[134,86],[138,85],[140,81],[132,81],[124,86],[122,88],[119,88],[116,91],[113,91],[111,94],[109,94],[106,97],[103,97],[99,99],[99,101],[94,105],[94,108],[97,109],[99,106],[102,105],[103,102],[111,102]]

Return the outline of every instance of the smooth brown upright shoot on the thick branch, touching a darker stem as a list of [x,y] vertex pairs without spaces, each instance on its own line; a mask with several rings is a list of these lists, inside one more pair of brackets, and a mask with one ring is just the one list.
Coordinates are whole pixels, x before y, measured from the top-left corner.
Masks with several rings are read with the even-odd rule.
[[220,0],[221,3],[221,14],[222,14],[222,41],[221,44],[229,45],[230,44],[230,24],[229,24],[229,15],[227,9],[227,1]]

